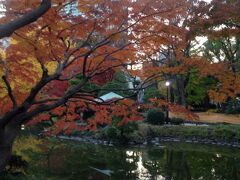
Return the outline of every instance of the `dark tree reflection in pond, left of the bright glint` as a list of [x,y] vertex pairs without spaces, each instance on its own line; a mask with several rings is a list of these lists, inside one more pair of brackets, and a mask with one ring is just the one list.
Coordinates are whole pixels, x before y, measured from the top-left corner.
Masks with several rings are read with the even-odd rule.
[[[111,178],[136,179],[136,162],[139,159],[137,152],[131,156],[121,148],[109,148],[103,146],[94,146],[89,144],[60,146],[51,151],[46,167],[51,175],[61,178],[71,177],[74,179],[105,179],[106,175],[95,171],[93,168],[101,170],[111,170],[114,173]],[[128,161],[127,159],[131,159]],[[93,168],[92,168],[93,167]]]

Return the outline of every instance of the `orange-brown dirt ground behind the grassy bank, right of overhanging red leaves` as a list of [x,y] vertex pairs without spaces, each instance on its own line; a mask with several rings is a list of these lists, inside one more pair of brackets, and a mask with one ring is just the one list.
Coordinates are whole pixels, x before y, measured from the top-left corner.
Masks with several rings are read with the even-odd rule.
[[227,122],[232,124],[240,124],[240,115],[227,115],[208,112],[201,112],[196,114],[199,116],[200,121],[202,122],[209,123]]

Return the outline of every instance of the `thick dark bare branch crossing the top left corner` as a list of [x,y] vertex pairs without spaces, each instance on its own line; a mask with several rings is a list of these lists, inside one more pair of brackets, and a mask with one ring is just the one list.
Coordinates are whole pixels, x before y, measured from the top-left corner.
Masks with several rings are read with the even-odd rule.
[[0,38],[11,36],[14,31],[24,27],[44,15],[51,8],[51,0],[42,0],[40,6],[31,12],[10,21],[7,24],[0,25]]

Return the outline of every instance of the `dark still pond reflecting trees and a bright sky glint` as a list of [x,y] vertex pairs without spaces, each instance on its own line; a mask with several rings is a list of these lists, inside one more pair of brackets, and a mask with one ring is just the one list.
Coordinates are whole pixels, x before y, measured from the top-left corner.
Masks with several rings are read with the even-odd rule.
[[48,153],[31,154],[23,179],[240,179],[239,149],[188,143],[159,147],[54,143]]

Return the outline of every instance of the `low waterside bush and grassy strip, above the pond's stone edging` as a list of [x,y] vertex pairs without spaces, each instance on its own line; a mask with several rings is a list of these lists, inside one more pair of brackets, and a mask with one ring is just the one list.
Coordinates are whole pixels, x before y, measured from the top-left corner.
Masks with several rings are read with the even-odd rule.
[[239,125],[156,126],[140,122],[137,124],[129,123],[121,127],[121,129],[122,130],[120,130],[119,127],[108,126],[104,129],[102,138],[120,144],[128,142],[143,143],[156,137],[172,137],[178,139],[193,138],[220,142],[240,141]]

